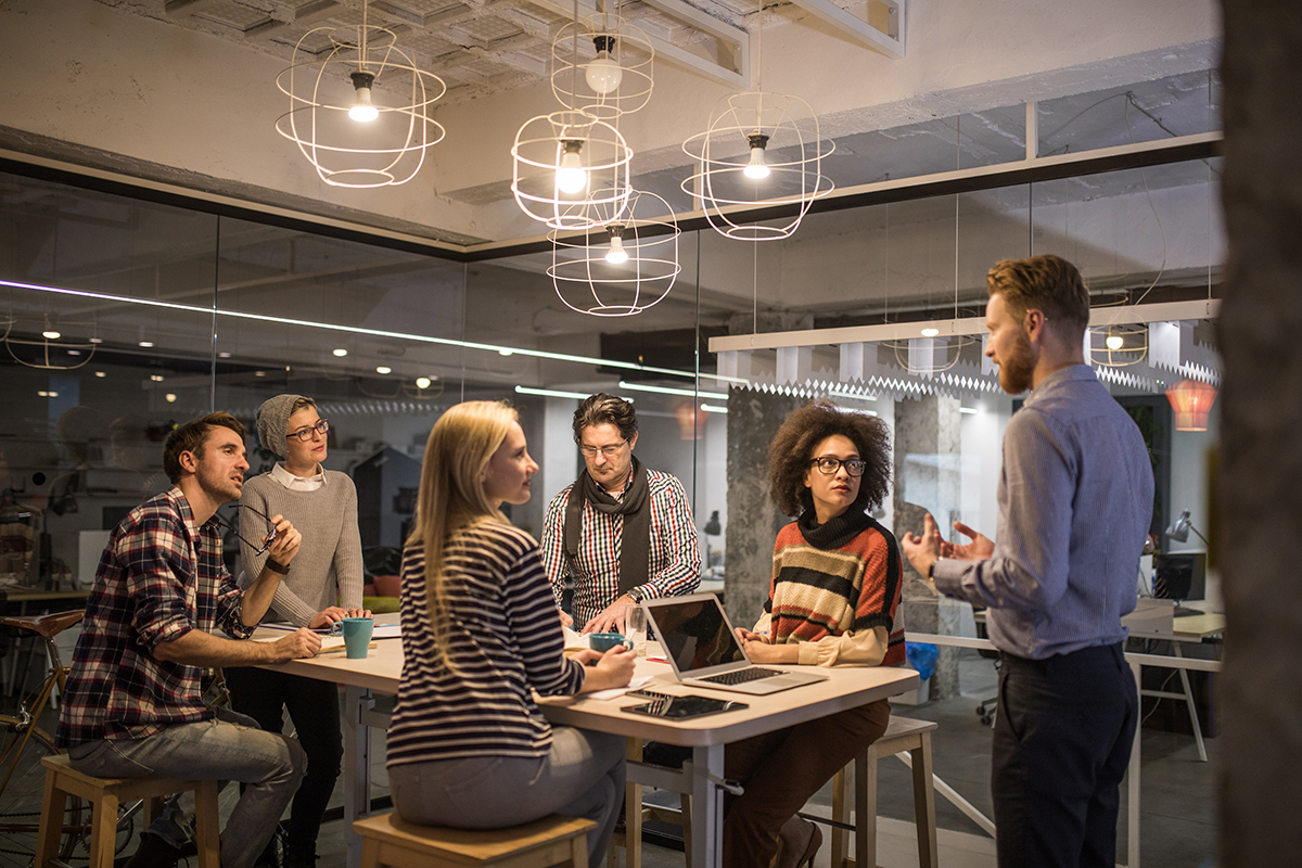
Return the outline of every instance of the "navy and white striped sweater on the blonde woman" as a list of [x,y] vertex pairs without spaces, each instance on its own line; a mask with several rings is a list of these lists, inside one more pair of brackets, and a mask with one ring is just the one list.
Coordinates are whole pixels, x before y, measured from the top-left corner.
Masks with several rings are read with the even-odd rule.
[[471,756],[544,756],[551,725],[530,688],[573,695],[583,666],[565,639],[534,539],[486,521],[452,535],[444,570],[453,614],[450,673],[430,626],[424,550],[402,553],[402,678],[388,766]]

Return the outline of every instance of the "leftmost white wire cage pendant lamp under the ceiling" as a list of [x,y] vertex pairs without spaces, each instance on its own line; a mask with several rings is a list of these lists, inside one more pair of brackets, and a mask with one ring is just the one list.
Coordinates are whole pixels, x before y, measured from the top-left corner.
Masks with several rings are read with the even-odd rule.
[[[383,94],[376,86],[383,85]],[[448,87],[397,46],[397,34],[367,23],[315,27],[276,77],[289,111],[276,131],[298,146],[322,181],[337,187],[406,183],[447,131],[430,113]],[[395,99],[398,105],[385,102]]]

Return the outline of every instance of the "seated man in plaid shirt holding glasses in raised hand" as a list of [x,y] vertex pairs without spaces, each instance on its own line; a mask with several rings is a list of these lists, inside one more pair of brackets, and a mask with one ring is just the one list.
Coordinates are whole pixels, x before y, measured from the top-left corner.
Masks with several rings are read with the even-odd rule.
[[[301,536],[271,518],[270,558],[240,591],[210,521],[240,500],[245,429],[214,413],[168,436],[163,467],[173,485],[113,530],[99,561],[59,717],[59,747],[98,777],[176,777],[245,783],[221,834],[221,864],[247,868],[271,839],[302,778],[298,743],[203,701],[204,675],[311,657],[320,636],[298,630],[273,643],[243,642],[298,553]],[[221,629],[230,639],[214,635]],[[182,799],[184,802],[184,799]],[[193,796],[189,802],[193,806]],[[132,868],[174,865],[187,837],[176,804],[142,835]]]

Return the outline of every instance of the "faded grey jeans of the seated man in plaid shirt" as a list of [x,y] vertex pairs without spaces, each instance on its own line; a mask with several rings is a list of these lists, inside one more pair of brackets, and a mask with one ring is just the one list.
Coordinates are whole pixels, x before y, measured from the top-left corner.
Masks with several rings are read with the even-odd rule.
[[[221,830],[223,868],[250,868],[298,790],[306,761],[298,742],[264,733],[250,717],[225,708],[216,720],[181,724],[148,738],[100,739],[68,751],[73,768],[95,777],[172,777],[245,783]],[[194,796],[173,799],[150,826],[173,847],[190,838]]]

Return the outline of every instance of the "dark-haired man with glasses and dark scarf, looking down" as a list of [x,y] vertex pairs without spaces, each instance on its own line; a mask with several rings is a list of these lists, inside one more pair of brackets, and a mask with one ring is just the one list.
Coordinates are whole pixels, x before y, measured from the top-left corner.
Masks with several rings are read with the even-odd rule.
[[574,441],[586,466],[547,506],[543,563],[557,605],[573,579],[575,627],[622,632],[625,606],[700,584],[691,506],[682,483],[633,455],[638,418],[628,401],[586,398]]

